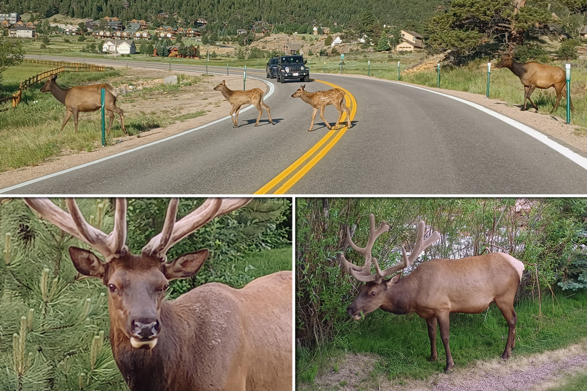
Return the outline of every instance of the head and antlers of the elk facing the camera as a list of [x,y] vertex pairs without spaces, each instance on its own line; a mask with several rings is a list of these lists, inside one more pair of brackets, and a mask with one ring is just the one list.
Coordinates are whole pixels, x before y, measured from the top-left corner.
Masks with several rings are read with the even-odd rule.
[[111,327],[120,329],[134,348],[151,349],[165,325],[161,324],[161,302],[168,283],[200,270],[208,250],[184,254],[167,262],[167,251],[214,217],[247,204],[251,199],[209,198],[199,208],[176,222],[178,199],[171,199],[161,233],[143,247],[140,255],[126,246],[126,199],[116,199],[114,227],[106,234],[89,225],[73,198],[66,199],[69,213],[46,198],[25,198],[25,203],[63,231],[89,244],[102,254],[70,247],[73,266],[84,276],[96,277],[108,287]]

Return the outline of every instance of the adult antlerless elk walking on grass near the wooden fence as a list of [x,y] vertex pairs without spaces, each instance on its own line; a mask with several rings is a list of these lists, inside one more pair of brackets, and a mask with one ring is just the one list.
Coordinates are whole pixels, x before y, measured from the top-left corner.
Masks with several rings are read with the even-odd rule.
[[46,81],[41,87],[41,92],[50,92],[58,101],[65,104],[67,109],[65,113],[65,120],[61,125],[59,133],[63,131],[69,118],[73,114],[73,122],[75,123],[75,134],[77,134],[77,117],[79,113],[86,113],[89,111],[97,111],[102,108],[100,90],[106,90],[104,97],[104,109],[110,117],[110,124],[108,125],[107,134],[110,134],[110,128],[114,121],[114,113],[120,116],[120,126],[124,134],[127,134],[124,128],[124,111],[122,108],[116,107],[116,98],[118,93],[110,84],[90,84],[89,86],[74,86],[69,89],[62,89],[56,83],[57,74],[54,74],[50,80]]

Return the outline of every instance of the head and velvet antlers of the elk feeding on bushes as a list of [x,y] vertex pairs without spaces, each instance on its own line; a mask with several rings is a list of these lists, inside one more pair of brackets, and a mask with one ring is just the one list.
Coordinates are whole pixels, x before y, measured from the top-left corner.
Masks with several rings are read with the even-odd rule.
[[[367,239],[366,246],[362,248],[357,247],[356,244],[353,243],[351,240],[349,228],[346,228],[346,240],[348,244],[353,248],[353,250],[363,254],[363,257],[365,257],[365,264],[363,264],[363,266],[356,266],[347,261],[344,254],[341,254],[340,256],[343,261],[343,266],[350,273],[350,275],[355,277],[356,280],[363,281],[365,283],[362,287],[360,287],[359,294],[357,294],[355,300],[353,300],[349,307],[346,308],[346,313],[356,321],[360,320],[361,312],[363,312],[363,314],[369,314],[369,312],[377,310],[377,308],[381,307],[384,302],[389,300],[389,292],[387,291],[390,287],[392,287],[392,285],[399,283],[402,273],[396,274],[396,276],[389,278],[389,280],[386,280],[385,277],[396,273],[396,271],[402,271],[404,268],[410,266],[422,253],[422,251],[426,249],[426,247],[429,247],[430,244],[440,239],[440,233],[434,231],[430,237],[428,237],[428,239],[423,240],[424,222],[421,221],[417,228],[416,244],[414,244],[414,249],[411,251],[410,256],[406,255],[406,249],[404,249],[402,246],[402,262],[385,270],[381,270],[379,268],[379,263],[377,263],[377,259],[372,256],[371,251],[377,237],[379,237],[387,230],[389,230],[389,225],[387,225],[385,222],[381,222],[379,227],[376,229],[375,216],[370,215],[369,239]],[[375,274],[371,273],[372,261],[375,264]]]

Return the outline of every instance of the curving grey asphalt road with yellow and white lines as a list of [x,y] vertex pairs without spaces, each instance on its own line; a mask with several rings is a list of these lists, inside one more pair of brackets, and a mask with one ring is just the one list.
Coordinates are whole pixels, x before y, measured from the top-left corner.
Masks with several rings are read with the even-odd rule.
[[[53,60],[79,60],[45,56]],[[120,60],[92,60],[126,65]],[[168,69],[167,63],[129,66]],[[203,72],[203,66],[172,64]],[[225,74],[226,67],[208,67]],[[231,74],[242,69],[231,68]],[[403,83],[312,73],[306,90],[345,92],[352,127],[316,120],[292,98],[302,83],[271,84],[257,110],[0,190],[18,194],[585,194],[587,159],[545,135],[467,101]],[[123,98],[120,99],[123,101]],[[250,106],[249,106],[250,107]],[[65,111],[65,108],[64,108]],[[345,114],[346,115],[346,114]],[[338,113],[326,107],[326,120]],[[343,126],[345,124],[345,126]],[[57,131],[57,130],[56,130]],[[68,131],[68,130],[66,130]],[[99,131],[99,130],[96,130]],[[1,174],[0,174],[1,175]]]

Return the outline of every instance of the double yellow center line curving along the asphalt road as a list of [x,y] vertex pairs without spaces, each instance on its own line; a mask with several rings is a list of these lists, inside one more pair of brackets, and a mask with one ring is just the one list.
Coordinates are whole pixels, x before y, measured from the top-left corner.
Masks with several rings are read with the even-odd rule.
[[[346,106],[350,108],[350,120],[355,118],[357,112],[357,101],[353,94],[348,90],[343,89],[336,84],[328,83],[328,81],[314,80],[319,83],[326,84],[330,87],[342,90],[345,93]],[[342,114],[340,123],[346,121],[346,113]],[[301,158],[296,160],[288,168],[284,169],[279,175],[271,179],[269,183],[263,186],[261,189],[255,192],[255,194],[284,194],[288,191],[291,186],[294,186],[302,176],[306,175],[308,171],[312,169],[327,153],[334,147],[334,145],[340,140],[340,137],[345,134],[348,126],[344,125],[340,130],[330,130],[322,139],[308,150]],[[326,144],[328,142],[328,144]],[[325,145],[326,144],[326,145]],[[279,186],[281,185],[281,186]],[[279,187],[278,187],[279,186]],[[273,189],[277,188],[275,191]]]

